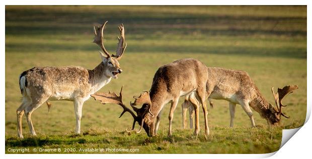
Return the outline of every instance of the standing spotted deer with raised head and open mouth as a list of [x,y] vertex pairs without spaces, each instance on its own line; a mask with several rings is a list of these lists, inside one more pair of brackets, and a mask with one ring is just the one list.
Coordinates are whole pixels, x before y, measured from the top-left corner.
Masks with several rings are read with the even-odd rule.
[[48,101],[72,101],[76,117],[75,133],[80,134],[80,123],[82,118],[82,108],[92,94],[107,85],[112,78],[118,78],[117,75],[122,72],[118,60],[121,59],[127,43],[125,43],[124,26],[121,24],[118,28],[120,38],[118,37],[116,55],[110,54],[104,47],[104,27],[107,21],[97,28],[94,26],[94,43],[100,46],[104,53],[100,52],[101,63],[94,69],[86,69],[80,66],[64,67],[33,67],[20,74],[19,84],[23,96],[22,104],[17,109],[18,137],[23,138],[22,134],[22,116],[26,115],[26,120],[32,135],[36,135],[31,114],[39,108],[44,102],[50,109],[51,104]]

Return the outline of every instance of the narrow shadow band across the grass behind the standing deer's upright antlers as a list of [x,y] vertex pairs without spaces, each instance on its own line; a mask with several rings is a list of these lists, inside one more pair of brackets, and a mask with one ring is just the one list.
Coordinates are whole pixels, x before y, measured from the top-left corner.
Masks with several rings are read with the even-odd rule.
[[[110,45],[108,45],[110,46]],[[42,52],[51,53],[58,51],[92,51],[94,45],[61,45],[61,44],[6,44],[6,52]],[[246,55],[257,57],[289,57],[289,58],[306,58],[306,48],[282,47],[282,48],[255,48],[255,47],[241,47],[241,46],[139,46],[132,45],[127,47],[127,52],[135,53],[207,53],[218,55]]]

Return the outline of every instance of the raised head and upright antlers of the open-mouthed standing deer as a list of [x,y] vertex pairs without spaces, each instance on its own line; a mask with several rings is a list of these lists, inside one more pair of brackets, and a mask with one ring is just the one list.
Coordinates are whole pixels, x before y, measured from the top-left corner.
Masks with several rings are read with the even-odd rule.
[[118,37],[118,44],[117,44],[117,50],[116,55],[110,54],[104,47],[104,27],[106,25],[107,21],[102,25],[98,26],[97,28],[94,26],[94,43],[98,44],[104,53],[100,51],[100,55],[102,58],[102,62],[105,65],[106,68],[106,75],[117,78],[117,75],[122,72],[122,69],[119,66],[118,60],[121,59],[126,47],[127,43],[125,43],[125,30],[123,24],[121,24],[118,29],[120,31],[120,38]]

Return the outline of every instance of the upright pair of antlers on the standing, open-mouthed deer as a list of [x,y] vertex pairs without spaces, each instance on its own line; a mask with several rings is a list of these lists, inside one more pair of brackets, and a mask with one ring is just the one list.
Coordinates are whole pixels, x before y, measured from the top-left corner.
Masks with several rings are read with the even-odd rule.
[[[120,31],[120,37],[118,37],[118,44],[117,44],[117,51],[116,51],[116,55],[111,55],[104,47],[104,27],[106,25],[108,21],[106,21],[102,26],[98,26],[97,29],[94,26],[94,43],[98,44],[102,50],[104,51],[104,53],[106,54],[107,57],[114,57],[117,58],[117,60],[121,59],[121,56],[123,55],[126,47],[127,47],[127,43],[125,43],[125,29],[123,24],[121,24],[118,29]],[[124,44],[125,43],[125,44]]]

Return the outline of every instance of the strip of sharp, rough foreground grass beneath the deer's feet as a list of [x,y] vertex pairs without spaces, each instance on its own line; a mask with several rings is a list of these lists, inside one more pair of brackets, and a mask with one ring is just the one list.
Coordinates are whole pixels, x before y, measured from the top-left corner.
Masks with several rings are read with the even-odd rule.
[[[299,125],[293,124],[292,126]],[[138,153],[224,153],[220,147],[228,147],[227,153],[266,153],[275,151],[279,147],[281,130],[280,127],[270,129],[265,126],[245,129],[216,126],[211,129],[208,140],[205,140],[203,135],[196,138],[191,130],[182,129],[176,130],[172,137],[167,137],[167,129],[161,130],[158,136],[146,137],[143,133],[134,134],[120,130],[90,128],[81,135],[73,132],[63,132],[61,135],[39,134],[36,137],[27,136],[23,140],[16,136],[8,136],[6,145],[30,149],[61,148],[61,153],[84,153],[81,148],[87,147],[133,148],[139,149]],[[238,146],[240,146],[239,149]],[[66,152],[64,150],[66,148],[74,149]],[[121,152],[104,151],[102,153]]]

